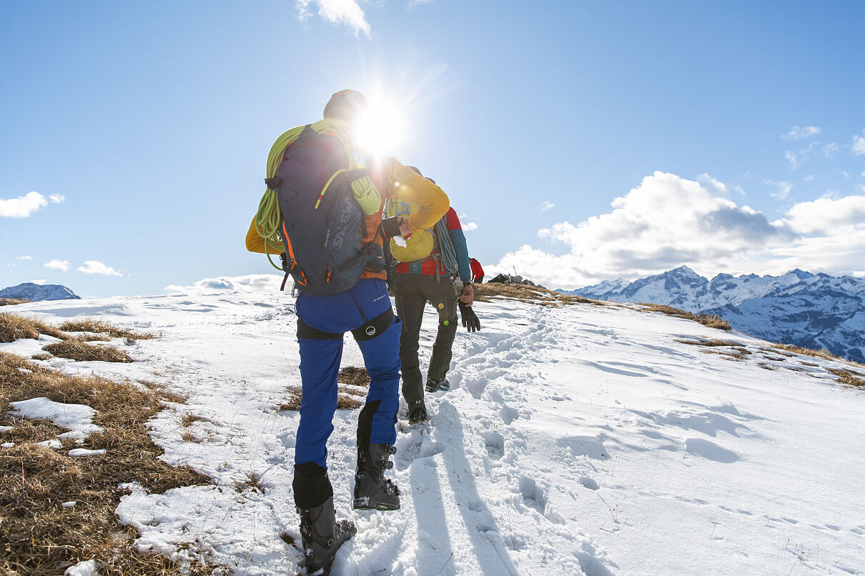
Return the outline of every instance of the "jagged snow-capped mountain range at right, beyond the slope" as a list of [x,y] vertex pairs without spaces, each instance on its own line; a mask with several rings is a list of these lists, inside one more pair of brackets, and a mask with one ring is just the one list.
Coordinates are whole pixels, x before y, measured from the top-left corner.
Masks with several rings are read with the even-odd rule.
[[718,274],[709,280],[680,266],[633,282],[607,280],[567,293],[717,314],[746,334],[825,348],[865,362],[865,279],[796,269],[783,276]]

